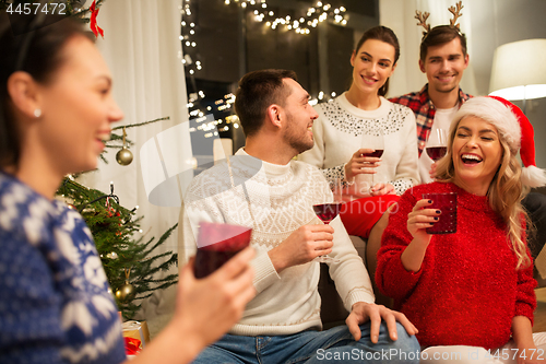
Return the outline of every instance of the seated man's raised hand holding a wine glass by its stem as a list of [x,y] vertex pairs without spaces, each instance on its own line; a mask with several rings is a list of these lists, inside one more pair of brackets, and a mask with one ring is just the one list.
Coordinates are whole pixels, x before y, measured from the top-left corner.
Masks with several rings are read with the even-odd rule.
[[286,268],[305,265],[332,253],[333,227],[325,224],[304,225],[268,254],[277,273]]

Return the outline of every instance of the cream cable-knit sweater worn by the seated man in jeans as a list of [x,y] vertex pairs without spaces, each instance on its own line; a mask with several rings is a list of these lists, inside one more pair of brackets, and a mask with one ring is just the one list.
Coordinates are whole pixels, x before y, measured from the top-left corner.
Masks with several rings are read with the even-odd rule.
[[[319,263],[290,267],[277,274],[268,251],[299,226],[322,223],[312,206],[332,200],[324,177],[307,163],[274,165],[249,156],[242,149],[230,158],[230,167],[233,184],[228,165],[222,162],[197,176],[188,189],[180,215],[181,262],[195,253],[199,222],[252,226],[250,244],[257,250],[253,268],[258,294],[230,333],[277,336],[320,329]],[[341,262],[330,265],[330,275],[345,308],[351,310],[356,302],[372,303],[368,272],[347,232],[339,218],[331,225],[335,231],[331,256]]]

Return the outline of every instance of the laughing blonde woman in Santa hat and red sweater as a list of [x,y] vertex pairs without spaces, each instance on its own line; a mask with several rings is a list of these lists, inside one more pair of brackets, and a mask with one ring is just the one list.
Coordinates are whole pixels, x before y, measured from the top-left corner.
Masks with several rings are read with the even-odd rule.
[[[423,360],[520,364],[546,357],[544,340],[532,333],[536,281],[520,203],[525,185],[545,181],[532,141],[531,124],[513,104],[466,102],[451,124],[437,181],[407,190],[391,213],[376,282],[418,328],[428,348]],[[517,160],[520,146],[525,168]],[[458,193],[456,233],[427,234],[442,219],[422,197],[430,192]]]

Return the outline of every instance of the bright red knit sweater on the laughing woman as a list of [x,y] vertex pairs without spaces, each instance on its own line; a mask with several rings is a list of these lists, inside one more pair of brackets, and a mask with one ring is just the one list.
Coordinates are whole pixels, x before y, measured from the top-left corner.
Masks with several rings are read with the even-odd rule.
[[[400,256],[412,240],[407,214],[422,193],[452,191],[458,193],[456,233],[434,235],[422,269],[406,271]],[[378,287],[417,327],[424,347],[499,348],[510,339],[514,316],[533,322],[533,267],[515,270],[506,224],[486,197],[446,183],[408,189],[390,216],[378,260]]]

